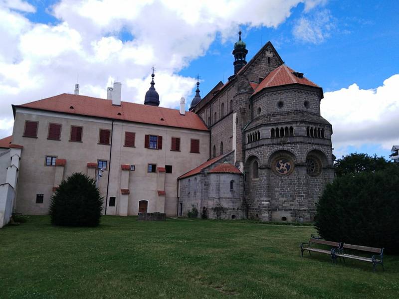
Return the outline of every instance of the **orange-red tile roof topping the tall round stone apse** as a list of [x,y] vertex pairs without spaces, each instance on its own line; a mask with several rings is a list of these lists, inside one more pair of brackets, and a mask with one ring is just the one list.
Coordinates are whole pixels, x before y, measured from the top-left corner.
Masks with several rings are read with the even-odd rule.
[[271,71],[263,80],[259,83],[258,87],[255,89],[252,95],[258,93],[264,88],[273,87],[273,86],[281,86],[287,84],[303,84],[313,87],[319,87],[314,84],[312,81],[306,79],[305,77],[295,76],[293,73],[295,71],[285,64],[280,65],[278,68]]

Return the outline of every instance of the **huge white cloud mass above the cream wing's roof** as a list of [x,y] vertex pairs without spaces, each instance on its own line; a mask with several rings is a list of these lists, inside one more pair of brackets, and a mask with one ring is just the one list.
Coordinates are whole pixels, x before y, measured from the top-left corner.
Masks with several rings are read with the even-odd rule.
[[[309,10],[321,2],[60,0],[47,7],[59,22],[41,24],[24,16],[35,11],[31,4],[0,0],[0,119],[12,120],[11,104],[72,93],[77,76],[81,94],[105,97],[114,78],[123,100],[142,103],[152,65],[161,106],[178,107],[182,96],[189,105],[195,80],[178,72],[216,36],[233,42],[240,23],[277,27],[299,3]],[[0,130],[10,133],[4,124]]]

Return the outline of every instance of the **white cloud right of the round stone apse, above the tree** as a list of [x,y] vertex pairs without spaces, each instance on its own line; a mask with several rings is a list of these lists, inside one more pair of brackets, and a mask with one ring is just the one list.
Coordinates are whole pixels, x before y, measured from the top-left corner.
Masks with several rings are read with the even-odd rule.
[[337,152],[348,147],[378,145],[389,151],[399,144],[399,74],[375,89],[348,88],[327,92],[321,113],[333,126]]

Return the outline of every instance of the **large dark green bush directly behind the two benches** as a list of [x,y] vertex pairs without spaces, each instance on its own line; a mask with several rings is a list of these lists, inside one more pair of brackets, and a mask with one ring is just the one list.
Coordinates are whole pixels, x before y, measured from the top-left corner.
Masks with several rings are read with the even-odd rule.
[[326,240],[399,253],[399,167],[335,178],[317,204],[315,226]]

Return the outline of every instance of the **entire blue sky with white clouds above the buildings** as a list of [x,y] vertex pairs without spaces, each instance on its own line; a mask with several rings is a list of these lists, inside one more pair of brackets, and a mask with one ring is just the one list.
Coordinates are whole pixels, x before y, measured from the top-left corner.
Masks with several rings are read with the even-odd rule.
[[11,104],[61,93],[144,102],[155,66],[160,106],[178,108],[233,74],[239,30],[247,61],[271,41],[323,88],[337,157],[388,158],[399,145],[399,1],[0,0],[0,138]]

